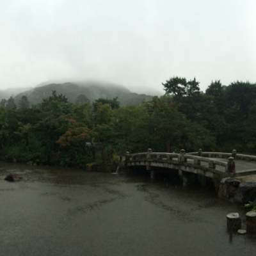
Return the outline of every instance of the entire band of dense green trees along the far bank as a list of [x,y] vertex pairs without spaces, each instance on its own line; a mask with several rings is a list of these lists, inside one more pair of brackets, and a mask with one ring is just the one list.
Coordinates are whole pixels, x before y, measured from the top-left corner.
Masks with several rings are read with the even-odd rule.
[[[110,168],[126,151],[218,150],[256,153],[256,86],[212,82],[200,91],[196,79],[172,77],[166,94],[139,106],[120,107],[117,98],[76,103],[52,95],[29,107],[12,97],[0,102],[0,154],[6,161]],[[13,104],[14,103],[14,104]]]

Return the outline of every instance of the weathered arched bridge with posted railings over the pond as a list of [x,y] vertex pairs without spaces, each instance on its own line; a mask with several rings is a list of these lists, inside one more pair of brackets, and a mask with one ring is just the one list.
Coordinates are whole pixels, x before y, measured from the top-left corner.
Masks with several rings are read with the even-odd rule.
[[149,148],[147,152],[125,155],[125,166],[145,166],[154,178],[156,168],[177,170],[183,177],[183,185],[186,186],[188,180],[186,173],[196,173],[212,178],[214,174],[225,177],[239,177],[256,174],[256,156],[237,154],[236,150],[230,153],[221,152],[198,152],[180,153],[152,152]]

